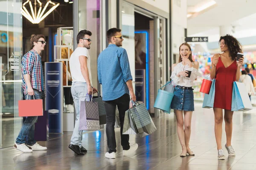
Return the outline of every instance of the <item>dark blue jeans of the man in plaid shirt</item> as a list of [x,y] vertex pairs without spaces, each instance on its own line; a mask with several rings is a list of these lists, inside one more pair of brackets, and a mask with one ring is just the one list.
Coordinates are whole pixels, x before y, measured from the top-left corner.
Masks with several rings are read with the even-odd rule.
[[[41,91],[38,91],[34,89],[34,97],[35,99],[43,99],[43,94]],[[30,96],[26,94],[25,96],[26,100],[34,99],[33,96]],[[26,118],[25,122],[23,123],[20,133],[16,139],[17,144],[23,144],[27,143],[28,145],[34,145],[36,143],[34,139],[34,132],[35,132],[35,122],[37,122],[38,116],[29,116]],[[27,142],[26,142],[26,136],[27,136]]]

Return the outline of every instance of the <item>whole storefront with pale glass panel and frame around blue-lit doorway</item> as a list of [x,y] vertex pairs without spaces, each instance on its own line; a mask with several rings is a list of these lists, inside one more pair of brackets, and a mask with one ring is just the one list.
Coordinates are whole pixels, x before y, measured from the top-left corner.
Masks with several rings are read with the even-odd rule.
[[120,23],[137,101],[158,117],[154,100],[166,83],[166,19],[122,1]]

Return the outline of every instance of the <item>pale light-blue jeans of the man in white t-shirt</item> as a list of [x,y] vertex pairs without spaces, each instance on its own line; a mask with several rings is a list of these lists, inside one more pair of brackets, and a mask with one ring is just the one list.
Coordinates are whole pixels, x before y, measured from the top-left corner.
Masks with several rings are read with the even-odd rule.
[[80,101],[85,99],[90,101],[89,96],[86,96],[87,93],[87,84],[85,82],[72,82],[71,94],[76,109],[76,122],[70,144],[79,145],[80,148],[82,147],[83,139],[83,130],[79,130]]

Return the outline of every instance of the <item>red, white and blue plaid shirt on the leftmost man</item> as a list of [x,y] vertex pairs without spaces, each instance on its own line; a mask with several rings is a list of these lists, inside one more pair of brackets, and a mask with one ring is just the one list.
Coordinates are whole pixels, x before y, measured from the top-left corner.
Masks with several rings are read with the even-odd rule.
[[[38,91],[42,91],[42,85],[41,85],[41,79],[44,81],[44,77],[41,77],[41,57],[40,55],[35,51],[31,50],[27,52],[22,57],[21,62],[21,72],[22,72],[22,88],[23,93],[27,94],[27,85],[24,79],[25,74],[30,74],[30,82],[32,88],[37,89]],[[45,85],[44,85],[44,91],[42,91],[43,96],[46,97],[45,93]]]

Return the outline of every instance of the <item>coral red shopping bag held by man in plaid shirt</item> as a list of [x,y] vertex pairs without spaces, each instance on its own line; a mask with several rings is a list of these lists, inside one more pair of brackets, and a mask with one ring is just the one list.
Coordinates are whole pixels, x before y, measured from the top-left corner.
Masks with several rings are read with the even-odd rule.
[[43,99],[19,100],[19,116],[43,116]]

